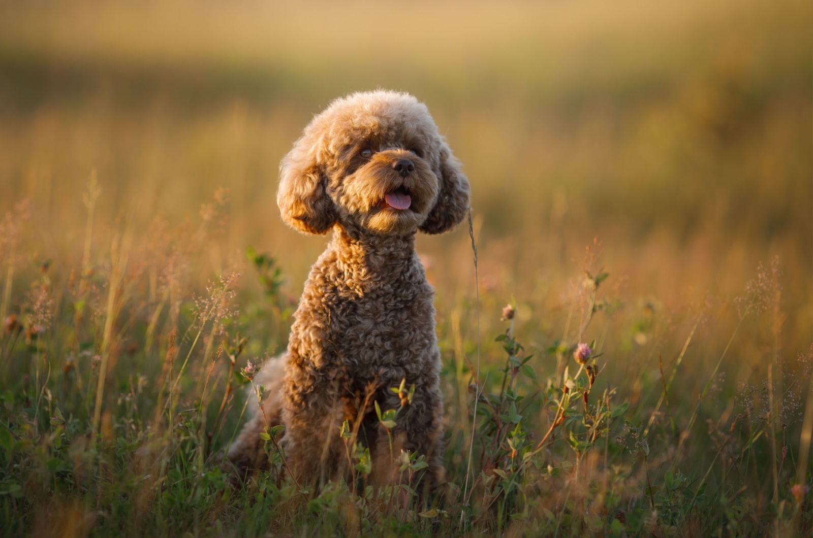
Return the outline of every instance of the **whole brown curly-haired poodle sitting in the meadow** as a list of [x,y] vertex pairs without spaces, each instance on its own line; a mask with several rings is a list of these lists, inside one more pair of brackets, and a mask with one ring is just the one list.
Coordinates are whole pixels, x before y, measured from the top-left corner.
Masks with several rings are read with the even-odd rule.
[[[228,458],[246,473],[267,464],[263,428],[304,483],[350,476],[340,428],[370,451],[373,484],[399,479],[402,451],[443,479],[441,357],[433,289],[415,232],[446,232],[467,214],[469,184],[427,107],[406,93],[354,93],[315,116],[280,164],[282,218],[333,239],[315,262],[293,315],[288,350],[256,379],[267,400]],[[411,401],[393,391],[415,384]],[[389,434],[382,413],[398,410]],[[256,406],[254,406],[256,407]]]

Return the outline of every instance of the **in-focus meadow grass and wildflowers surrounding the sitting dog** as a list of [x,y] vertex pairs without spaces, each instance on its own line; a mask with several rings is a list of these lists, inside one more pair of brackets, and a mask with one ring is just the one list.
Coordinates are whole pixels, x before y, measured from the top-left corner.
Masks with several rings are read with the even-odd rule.
[[[7,222],[26,222],[20,211]],[[476,342],[447,344],[441,336],[450,388],[446,484],[421,493],[423,457],[393,450],[390,432],[414,392],[403,380],[391,387],[400,408],[382,410],[371,401],[375,386],[359,402],[359,409],[375,410],[389,438],[392,483],[367,481],[372,462],[359,414],[338,432],[350,479],[313,488],[293,479],[280,426],[261,435],[265,471],[242,482],[224,462],[247,406],[262,412],[267,396],[254,383],[261,365],[249,352],[257,349],[251,342],[276,353],[291,304],[276,259],[254,249],[248,267],[238,267],[254,271],[259,283],[247,309],[238,307],[246,289],[237,271],[199,284],[205,293],[195,293],[187,271],[197,254],[185,245],[202,241],[201,230],[213,219],[204,213],[198,227],[171,230],[156,220],[144,238],[114,232],[111,249],[96,258],[83,254],[78,272],[61,260],[41,262],[24,273],[27,280],[10,271],[0,346],[0,519],[8,536],[59,529],[72,536],[789,536],[811,530],[806,450],[813,346],[795,362],[779,360],[778,260],[760,266],[746,284],[728,345],[689,401],[680,394],[682,366],[708,306],[687,312],[685,341],[671,361],[662,356],[668,346],[659,346],[649,396],[622,391],[612,371],[623,355],[602,342],[620,327],[624,307],[612,290],[605,293],[609,274],[589,269],[591,255],[572,288],[560,337],[526,349],[516,298],[494,315],[503,323],[495,339],[502,357],[489,350],[479,374],[472,363]],[[24,259],[27,246],[15,242],[23,228],[10,229],[4,228],[3,245],[15,249],[18,262],[7,269]],[[141,253],[150,253],[147,262],[135,261]],[[85,284],[77,286],[75,274]],[[650,336],[634,335],[654,332],[654,310],[644,311],[650,320],[633,321],[632,345],[648,345]],[[453,322],[441,323],[441,332],[463,330],[463,319]],[[767,376],[746,381],[722,412],[719,406],[710,412],[705,400],[728,387],[720,369],[744,326],[771,350]],[[698,449],[701,440],[705,448]]]

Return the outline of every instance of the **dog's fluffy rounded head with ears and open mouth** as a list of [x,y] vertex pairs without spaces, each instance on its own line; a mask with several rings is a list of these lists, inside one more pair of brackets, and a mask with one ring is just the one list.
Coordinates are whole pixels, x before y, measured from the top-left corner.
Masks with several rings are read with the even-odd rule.
[[334,224],[387,235],[440,233],[466,215],[469,185],[423,103],[354,93],[305,128],[280,164],[282,218],[308,233]]

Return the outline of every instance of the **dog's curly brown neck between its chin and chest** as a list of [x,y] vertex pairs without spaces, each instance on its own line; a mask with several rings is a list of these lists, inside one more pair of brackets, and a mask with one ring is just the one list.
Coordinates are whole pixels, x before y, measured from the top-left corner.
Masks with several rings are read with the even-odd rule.
[[415,259],[415,233],[379,236],[358,228],[333,228],[330,247],[342,272],[354,280],[391,282]]

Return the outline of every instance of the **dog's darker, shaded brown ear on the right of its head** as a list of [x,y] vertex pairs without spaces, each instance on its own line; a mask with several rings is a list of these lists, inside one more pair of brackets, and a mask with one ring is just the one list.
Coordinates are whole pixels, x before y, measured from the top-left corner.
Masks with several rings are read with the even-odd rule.
[[442,233],[463,220],[468,210],[469,184],[460,171],[460,163],[449,146],[441,142],[441,192],[429,215],[420,226],[424,233]]

